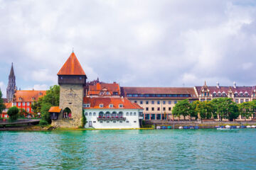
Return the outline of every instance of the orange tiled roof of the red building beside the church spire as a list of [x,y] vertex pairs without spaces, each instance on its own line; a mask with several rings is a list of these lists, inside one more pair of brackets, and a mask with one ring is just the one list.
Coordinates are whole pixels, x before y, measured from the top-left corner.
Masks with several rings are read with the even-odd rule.
[[16,91],[14,94],[14,102],[33,102],[38,101],[38,98],[41,98],[46,95],[46,91]]

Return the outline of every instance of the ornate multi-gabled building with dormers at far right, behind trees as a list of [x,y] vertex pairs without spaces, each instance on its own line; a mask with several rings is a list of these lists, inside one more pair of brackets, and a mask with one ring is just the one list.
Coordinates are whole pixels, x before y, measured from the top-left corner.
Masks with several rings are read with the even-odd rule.
[[[203,86],[195,86],[196,96],[199,101],[211,101],[214,98],[232,98],[235,103],[244,103],[256,99],[256,86],[207,86],[206,81]],[[245,120],[241,115],[237,120]],[[256,120],[255,114],[246,120]]]

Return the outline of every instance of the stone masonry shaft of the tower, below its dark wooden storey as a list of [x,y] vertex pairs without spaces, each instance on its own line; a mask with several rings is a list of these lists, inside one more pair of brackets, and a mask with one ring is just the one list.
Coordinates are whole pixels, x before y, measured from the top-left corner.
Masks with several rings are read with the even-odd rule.
[[[78,84],[60,84],[60,108],[62,112],[52,125],[61,128],[78,128],[82,125],[83,87]],[[63,118],[65,108],[70,108],[71,118]]]

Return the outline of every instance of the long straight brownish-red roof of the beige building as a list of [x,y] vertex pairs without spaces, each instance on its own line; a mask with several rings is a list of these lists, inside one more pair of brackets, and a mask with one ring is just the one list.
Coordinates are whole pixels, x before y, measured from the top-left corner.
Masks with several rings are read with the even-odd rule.
[[193,87],[122,87],[122,95],[127,94],[190,94],[196,98]]

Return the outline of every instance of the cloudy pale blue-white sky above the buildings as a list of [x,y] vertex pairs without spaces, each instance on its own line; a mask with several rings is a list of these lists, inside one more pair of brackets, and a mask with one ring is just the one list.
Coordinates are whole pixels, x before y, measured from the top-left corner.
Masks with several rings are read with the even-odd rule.
[[256,85],[256,1],[0,0],[0,88],[48,89],[74,48],[88,81]]

